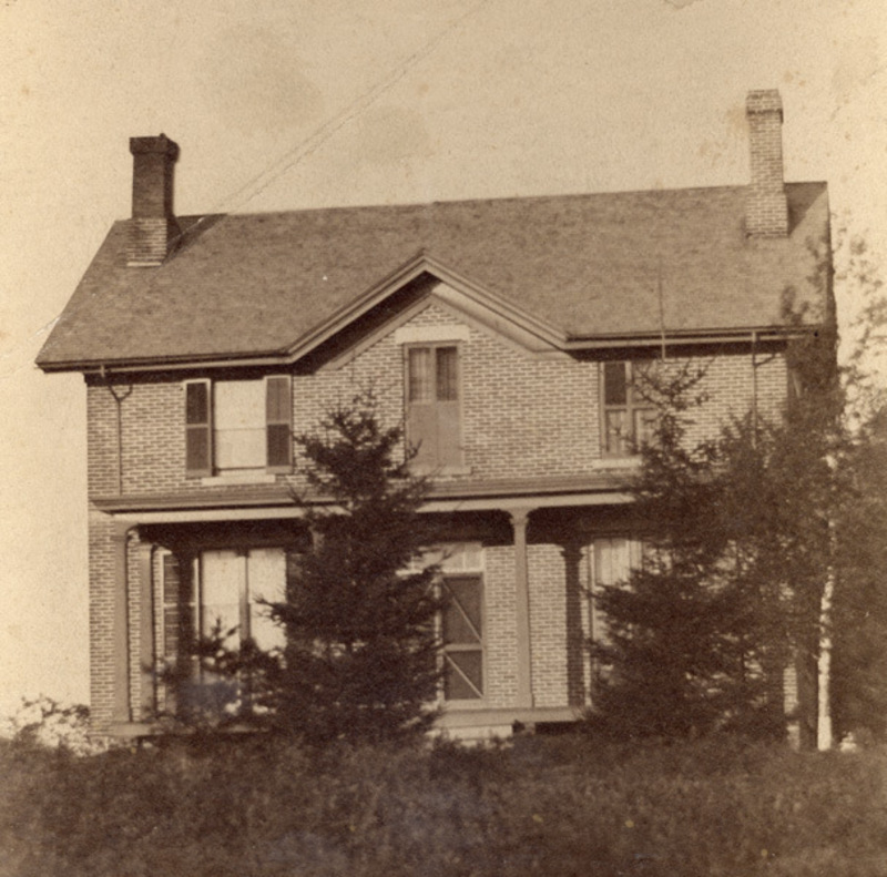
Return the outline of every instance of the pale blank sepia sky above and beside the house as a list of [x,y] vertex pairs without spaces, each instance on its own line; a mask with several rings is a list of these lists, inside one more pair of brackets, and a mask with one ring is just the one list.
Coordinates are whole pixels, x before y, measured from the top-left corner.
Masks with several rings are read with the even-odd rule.
[[33,360],[130,136],[183,215],[733,185],[777,88],[786,180],[887,265],[883,0],[0,0],[0,713],[89,701],[85,389]]

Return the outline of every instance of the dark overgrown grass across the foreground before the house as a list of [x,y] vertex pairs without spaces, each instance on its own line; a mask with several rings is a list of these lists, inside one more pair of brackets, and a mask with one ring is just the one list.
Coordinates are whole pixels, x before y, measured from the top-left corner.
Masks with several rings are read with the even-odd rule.
[[887,754],[0,747],[0,875],[887,875]]

